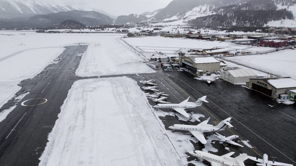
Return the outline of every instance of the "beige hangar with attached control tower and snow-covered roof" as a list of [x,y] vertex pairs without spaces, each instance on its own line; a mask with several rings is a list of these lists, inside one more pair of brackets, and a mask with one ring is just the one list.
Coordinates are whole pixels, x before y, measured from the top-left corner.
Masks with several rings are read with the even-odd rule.
[[203,76],[203,73],[214,73],[220,70],[221,62],[212,56],[185,57],[185,53],[179,52],[178,62],[186,71]]

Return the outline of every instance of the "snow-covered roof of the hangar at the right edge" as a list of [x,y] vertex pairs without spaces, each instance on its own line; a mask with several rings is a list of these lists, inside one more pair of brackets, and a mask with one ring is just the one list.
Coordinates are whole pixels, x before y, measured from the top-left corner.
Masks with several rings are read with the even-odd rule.
[[296,80],[290,77],[268,78],[265,81],[277,89],[296,87]]

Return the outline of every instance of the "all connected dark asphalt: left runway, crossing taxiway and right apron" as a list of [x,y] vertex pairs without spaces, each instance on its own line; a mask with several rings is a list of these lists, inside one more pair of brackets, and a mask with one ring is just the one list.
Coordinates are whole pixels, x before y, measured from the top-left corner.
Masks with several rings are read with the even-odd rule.
[[[43,152],[48,133],[51,132],[60,106],[67,97],[68,90],[74,81],[97,77],[77,77],[80,56],[87,49],[87,45],[67,46],[58,57],[57,64],[47,66],[38,76],[21,83],[22,89],[17,95],[30,92],[17,107],[0,123],[0,165],[38,165]],[[123,75],[101,76],[118,77]],[[163,71],[156,73],[127,74],[138,81],[154,79],[160,91],[169,94],[167,101],[180,103],[188,96],[190,101],[207,96],[209,103],[201,107],[190,109],[187,113],[201,113],[205,115],[201,121],[211,117],[209,124],[218,124],[227,117],[232,117],[231,124],[234,128],[227,128],[221,134],[230,136],[239,135],[241,140],[249,140],[255,148],[236,147],[227,145],[230,151],[247,153],[267,153],[269,156],[278,157],[277,161],[294,164],[296,161],[296,109],[295,105],[278,104],[275,100],[257,93],[241,85],[232,85],[225,81],[216,81],[210,85],[199,81],[181,71]],[[148,91],[146,91],[148,92]],[[152,94],[152,93],[151,93]],[[27,101],[28,100],[28,101]],[[25,102],[24,102],[25,101]],[[20,103],[23,102],[23,105]],[[151,105],[156,103],[150,101]],[[0,111],[15,105],[14,99],[4,105]],[[272,105],[273,107],[270,107]],[[171,109],[160,111],[173,112]],[[199,122],[181,121],[177,117],[160,117],[165,128],[172,124],[198,124]],[[211,135],[211,133],[206,133]],[[196,150],[201,150],[204,145],[192,142]],[[223,144],[214,144],[219,150],[214,154],[223,155],[229,151]],[[185,150],[185,149],[184,149]],[[188,154],[189,155],[189,154]],[[195,160],[189,157],[187,160]],[[208,162],[204,161],[205,164]],[[251,160],[246,160],[246,165],[255,165]]]

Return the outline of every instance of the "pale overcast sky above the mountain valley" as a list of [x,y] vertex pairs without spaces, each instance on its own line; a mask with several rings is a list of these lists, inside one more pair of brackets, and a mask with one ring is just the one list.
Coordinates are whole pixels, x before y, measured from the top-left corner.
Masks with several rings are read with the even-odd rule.
[[[49,0],[48,0],[49,1]],[[80,6],[89,6],[119,16],[142,14],[166,7],[172,0],[72,0]]]

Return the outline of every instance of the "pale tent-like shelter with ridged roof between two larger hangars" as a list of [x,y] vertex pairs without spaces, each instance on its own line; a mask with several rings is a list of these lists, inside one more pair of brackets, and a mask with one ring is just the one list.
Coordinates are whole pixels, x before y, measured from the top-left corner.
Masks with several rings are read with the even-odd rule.
[[256,78],[257,75],[250,69],[236,69],[221,72],[221,79],[232,84],[245,84],[250,78]]

